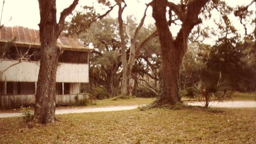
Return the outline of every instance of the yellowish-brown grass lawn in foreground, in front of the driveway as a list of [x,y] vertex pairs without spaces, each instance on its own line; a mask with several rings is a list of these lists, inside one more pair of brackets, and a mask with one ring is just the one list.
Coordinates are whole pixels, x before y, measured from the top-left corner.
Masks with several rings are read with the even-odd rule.
[[57,115],[53,124],[28,128],[20,118],[0,118],[5,143],[255,143],[254,108],[138,109]]

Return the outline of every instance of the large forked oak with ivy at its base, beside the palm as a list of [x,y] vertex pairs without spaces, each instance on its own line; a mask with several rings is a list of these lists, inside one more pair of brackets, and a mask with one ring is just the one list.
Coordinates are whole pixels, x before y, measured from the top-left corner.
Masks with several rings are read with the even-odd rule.
[[[156,21],[156,28],[161,44],[162,52],[162,70],[161,70],[161,88],[158,99],[154,104],[176,104],[181,102],[178,94],[178,76],[182,58],[187,51],[188,36],[191,30],[197,24],[202,23],[198,18],[202,8],[210,0],[189,0],[181,1],[180,4],[174,4],[167,0],[153,0],[150,5],[153,8],[153,18]],[[169,8],[169,20],[166,19],[166,10]],[[180,31],[174,38],[169,26],[175,20],[182,22]]]

